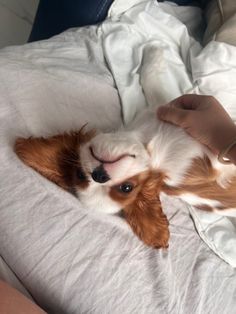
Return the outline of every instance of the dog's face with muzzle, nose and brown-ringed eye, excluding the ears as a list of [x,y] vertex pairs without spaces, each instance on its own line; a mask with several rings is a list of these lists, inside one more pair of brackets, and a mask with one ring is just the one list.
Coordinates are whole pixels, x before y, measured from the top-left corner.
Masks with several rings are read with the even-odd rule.
[[[79,155],[90,184],[86,191],[78,189],[78,196],[87,207],[106,213],[119,212],[124,205],[119,200],[134,198],[150,159],[141,142],[115,133],[96,135],[80,146]],[[88,194],[93,195],[89,200]]]

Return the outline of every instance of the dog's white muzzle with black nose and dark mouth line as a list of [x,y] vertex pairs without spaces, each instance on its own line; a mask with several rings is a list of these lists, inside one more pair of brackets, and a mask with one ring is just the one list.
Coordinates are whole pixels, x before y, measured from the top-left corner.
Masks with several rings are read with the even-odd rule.
[[145,146],[122,133],[99,134],[81,146],[83,168],[93,181],[113,186],[148,169]]

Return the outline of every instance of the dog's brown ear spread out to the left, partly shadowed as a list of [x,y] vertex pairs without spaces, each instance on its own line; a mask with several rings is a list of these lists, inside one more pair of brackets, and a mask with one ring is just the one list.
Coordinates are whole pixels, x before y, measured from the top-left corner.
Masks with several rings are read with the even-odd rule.
[[49,138],[18,138],[15,152],[26,165],[62,188],[69,189],[72,172],[79,162],[79,144],[93,135],[92,131],[79,131]]

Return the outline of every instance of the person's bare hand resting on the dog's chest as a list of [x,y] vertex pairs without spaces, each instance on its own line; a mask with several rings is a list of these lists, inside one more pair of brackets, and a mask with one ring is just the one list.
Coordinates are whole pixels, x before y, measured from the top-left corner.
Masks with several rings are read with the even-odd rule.
[[236,126],[213,96],[183,95],[157,110],[160,120],[183,128],[219,154],[236,139]]

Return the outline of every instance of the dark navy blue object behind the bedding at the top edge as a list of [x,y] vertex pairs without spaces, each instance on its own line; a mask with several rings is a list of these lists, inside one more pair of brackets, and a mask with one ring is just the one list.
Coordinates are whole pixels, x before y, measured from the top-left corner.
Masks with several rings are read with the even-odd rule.
[[[169,0],[190,5],[193,0]],[[50,38],[68,28],[103,21],[113,0],[40,0],[29,42]],[[201,0],[195,1],[201,2]]]

